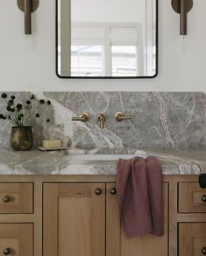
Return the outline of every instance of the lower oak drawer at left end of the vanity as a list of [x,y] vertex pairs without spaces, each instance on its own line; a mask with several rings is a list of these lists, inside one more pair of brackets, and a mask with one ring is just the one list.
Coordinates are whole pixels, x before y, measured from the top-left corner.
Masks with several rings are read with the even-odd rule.
[[33,224],[0,224],[0,255],[33,256]]

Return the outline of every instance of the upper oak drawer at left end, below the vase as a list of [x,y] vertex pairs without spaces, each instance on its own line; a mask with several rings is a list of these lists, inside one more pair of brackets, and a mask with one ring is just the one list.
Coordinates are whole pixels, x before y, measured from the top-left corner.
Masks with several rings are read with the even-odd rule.
[[0,183],[0,213],[32,213],[32,183]]

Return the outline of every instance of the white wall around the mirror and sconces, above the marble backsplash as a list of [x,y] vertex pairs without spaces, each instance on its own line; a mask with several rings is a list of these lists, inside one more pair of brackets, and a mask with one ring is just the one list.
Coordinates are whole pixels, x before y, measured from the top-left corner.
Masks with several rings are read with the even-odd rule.
[[154,79],[62,80],[55,75],[55,1],[39,0],[33,51],[26,52],[24,16],[16,1],[0,2],[0,90],[206,90],[206,1],[188,14],[188,53],[180,53],[179,16],[160,0],[159,75]]

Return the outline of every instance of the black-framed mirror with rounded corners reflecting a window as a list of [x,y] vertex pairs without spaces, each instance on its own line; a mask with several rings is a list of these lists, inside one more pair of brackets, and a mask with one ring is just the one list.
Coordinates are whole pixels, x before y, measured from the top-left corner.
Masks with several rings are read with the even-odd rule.
[[158,0],[56,0],[60,78],[153,78]]

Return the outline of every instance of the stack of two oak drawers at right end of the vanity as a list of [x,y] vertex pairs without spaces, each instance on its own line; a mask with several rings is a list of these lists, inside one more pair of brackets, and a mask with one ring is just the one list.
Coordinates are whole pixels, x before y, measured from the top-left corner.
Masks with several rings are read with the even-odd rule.
[[178,256],[206,255],[206,189],[196,181],[177,188]]

